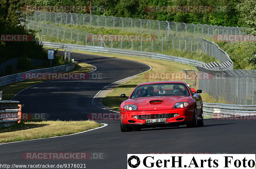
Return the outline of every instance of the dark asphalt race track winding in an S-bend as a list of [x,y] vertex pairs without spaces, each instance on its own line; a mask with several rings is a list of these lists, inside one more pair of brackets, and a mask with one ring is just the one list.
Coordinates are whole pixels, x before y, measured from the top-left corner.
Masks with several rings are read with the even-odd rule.
[[[72,53],[72,57],[96,66],[92,73],[102,73],[102,79],[51,80],[29,87],[13,98],[25,105],[22,112],[47,113],[49,120],[85,120],[89,113],[108,113],[91,104],[94,95],[110,83],[149,69],[145,64],[118,58],[78,53]],[[92,169],[119,169],[127,168],[127,154],[256,153],[255,120],[205,119],[200,128],[180,126],[124,133],[118,120],[97,122],[108,126],[71,136],[1,144],[0,163],[84,164]],[[26,152],[88,152],[90,158],[100,154],[103,159],[23,159]]]

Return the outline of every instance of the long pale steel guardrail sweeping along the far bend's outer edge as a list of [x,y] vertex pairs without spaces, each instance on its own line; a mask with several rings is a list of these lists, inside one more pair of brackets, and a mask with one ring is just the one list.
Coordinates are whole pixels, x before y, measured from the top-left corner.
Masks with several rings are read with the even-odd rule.
[[66,49],[67,47],[72,47],[73,50],[147,57],[152,59],[162,59],[162,60],[168,60],[172,62],[179,62],[179,63],[196,65],[196,66],[201,66],[205,64],[204,62],[201,62],[201,61],[195,61],[195,60],[187,59],[183,57],[157,54],[152,52],[143,52],[143,51],[117,49],[117,48],[106,48],[106,47],[98,47],[98,46],[76,45],[76,44],[67,44],[67,43],[46,42],[46,41],[39,41],[38,43],[51,48]]

